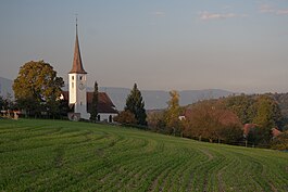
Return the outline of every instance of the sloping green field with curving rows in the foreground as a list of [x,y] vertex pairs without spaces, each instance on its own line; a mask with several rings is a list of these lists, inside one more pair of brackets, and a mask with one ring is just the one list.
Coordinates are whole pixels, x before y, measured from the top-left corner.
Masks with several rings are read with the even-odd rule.
[[0,191],[288,191],[288,153],[132,128],[0,119]]

